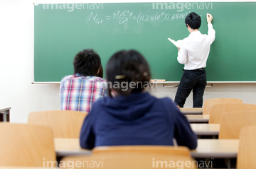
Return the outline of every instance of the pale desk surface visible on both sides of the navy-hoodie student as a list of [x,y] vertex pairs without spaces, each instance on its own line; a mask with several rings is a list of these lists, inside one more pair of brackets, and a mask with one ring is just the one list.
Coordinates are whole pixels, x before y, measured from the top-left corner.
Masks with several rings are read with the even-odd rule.
[[[54,139],[57,156],[88,155],[80,148],[79,139]],[[198,147],[191,151],[193,158],[236,158],[238,139],[198,139]]]

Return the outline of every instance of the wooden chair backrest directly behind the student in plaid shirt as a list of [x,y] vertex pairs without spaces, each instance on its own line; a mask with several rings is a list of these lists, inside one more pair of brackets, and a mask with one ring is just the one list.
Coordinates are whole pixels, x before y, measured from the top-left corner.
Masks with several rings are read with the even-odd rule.
[[28,124],[41,124],[53,129],[54,138],[79,138],[87,112],[53,110],[31,112]]

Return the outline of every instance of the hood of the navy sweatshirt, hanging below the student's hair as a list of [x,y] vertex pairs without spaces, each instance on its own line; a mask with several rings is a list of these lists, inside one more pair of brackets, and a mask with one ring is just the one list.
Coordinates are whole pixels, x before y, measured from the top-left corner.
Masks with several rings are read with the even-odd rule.
[[101,100],[105,112],[119,120],[136,120],[149,112],[157,98],[148,92],[132,93],[127,97],[117,96],[116,98],[106,97]]

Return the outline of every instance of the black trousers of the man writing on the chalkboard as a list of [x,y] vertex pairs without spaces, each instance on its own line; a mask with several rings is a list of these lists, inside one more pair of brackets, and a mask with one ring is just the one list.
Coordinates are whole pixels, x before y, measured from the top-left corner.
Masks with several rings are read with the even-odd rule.
[[186,98],[188,98],[188,95],[193,91],[193,107],[202,107],[203,93],[206,88],[206,83],[205,69],[184,70],[174,102],[179,107],[183,107]]

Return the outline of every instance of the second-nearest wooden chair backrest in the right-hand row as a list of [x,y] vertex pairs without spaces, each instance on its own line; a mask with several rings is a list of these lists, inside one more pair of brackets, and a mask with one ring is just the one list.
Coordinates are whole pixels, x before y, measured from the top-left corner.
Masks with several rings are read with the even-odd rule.
[[219,139],[239,139],[242,127],[256,125],[256,110],[224,112],[220,117]]

